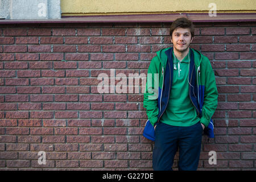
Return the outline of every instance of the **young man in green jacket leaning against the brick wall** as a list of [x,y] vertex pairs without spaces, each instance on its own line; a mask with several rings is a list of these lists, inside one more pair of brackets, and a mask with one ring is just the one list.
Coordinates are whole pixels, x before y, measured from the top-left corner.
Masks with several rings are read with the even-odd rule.
[[170,36],[173,47],[156,52],[144,93],[143,106],[155,127],[152,164],[154,170],[172,170],[179,149],[179,170],[196,170],[202,133],[213,125],[216,81],[209,59],[189,48],[194,38],[190,20],[176,19]]

